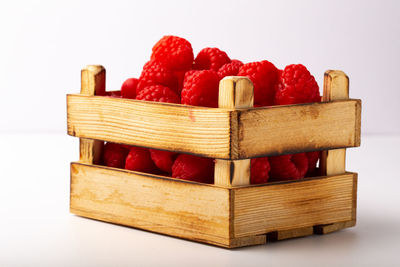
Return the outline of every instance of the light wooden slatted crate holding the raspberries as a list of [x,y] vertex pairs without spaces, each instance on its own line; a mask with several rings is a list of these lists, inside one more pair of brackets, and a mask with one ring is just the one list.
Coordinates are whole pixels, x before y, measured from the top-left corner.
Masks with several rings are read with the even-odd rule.
[[[72,213],[227,248],[355,225],[345,149],[360,145],[361,101],[343,72],[325,73],[321,103],[263,108],[245,77],[220,82],[219,108],[96,96],[104,91],[104,68],[88,66],[81,94],[67,96],[68,134],[80,138]],[[214,184],[100,166],[103,141],[215,158]],[[314,150],[324,176],[249,184],[250,158]]]

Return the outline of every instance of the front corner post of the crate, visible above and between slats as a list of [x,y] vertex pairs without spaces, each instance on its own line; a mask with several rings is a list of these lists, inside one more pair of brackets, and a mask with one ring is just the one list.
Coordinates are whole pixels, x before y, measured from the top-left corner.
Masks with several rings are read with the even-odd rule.
[[[218,107],[229,109],[251,108],[254,103],[253,83],[245,77],[225,77],[220,81]],[[233,113],[236,114],[236,113]],[[239,123],[237,116],[230,117],[231,155],[238,154]],[[224,186],[250,184],[250,159],[215,160],[214,183]]]

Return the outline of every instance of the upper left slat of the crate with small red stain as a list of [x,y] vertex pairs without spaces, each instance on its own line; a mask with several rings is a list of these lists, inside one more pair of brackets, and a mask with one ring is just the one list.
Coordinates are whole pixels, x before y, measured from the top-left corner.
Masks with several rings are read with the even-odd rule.
[[67,102],[70,135],[229,158],[227,110],[82,95]]

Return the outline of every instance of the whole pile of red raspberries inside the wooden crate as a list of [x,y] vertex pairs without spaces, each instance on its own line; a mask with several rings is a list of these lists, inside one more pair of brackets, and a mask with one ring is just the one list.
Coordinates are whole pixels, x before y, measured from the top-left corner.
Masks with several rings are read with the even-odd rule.
[[[247,76],[254,84],[254,106],[320,102],[318,84],[301,64],[283,70],[267,60],[243,63],[218,48],[204,48],[194,57],[192,45],[164,36],[152,48],[139,78],[127,79],[121,92],[109,93],[144,101],[218,107],[218,85],[225,76]],[[251,159],[251,183],[296,180],[316,174],[320,152]],[[214,182],[214,160],[188,154],[106,143],[103,164],[174,178]]]

